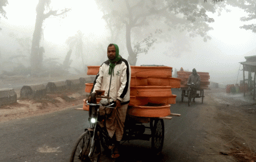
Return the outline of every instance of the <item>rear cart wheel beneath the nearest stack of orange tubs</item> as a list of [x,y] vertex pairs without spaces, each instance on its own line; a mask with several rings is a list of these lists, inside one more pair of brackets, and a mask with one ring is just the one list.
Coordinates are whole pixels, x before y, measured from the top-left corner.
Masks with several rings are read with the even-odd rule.
[[[153,125],[153,120],[152,120],[152,125]],[[152,147],[153,153],[156,153],[157,155],[159,155],[164,145],[164,120],[159,118],[154,120],[154,126],[151,129],[151,135],[152,135],[151,147]]]

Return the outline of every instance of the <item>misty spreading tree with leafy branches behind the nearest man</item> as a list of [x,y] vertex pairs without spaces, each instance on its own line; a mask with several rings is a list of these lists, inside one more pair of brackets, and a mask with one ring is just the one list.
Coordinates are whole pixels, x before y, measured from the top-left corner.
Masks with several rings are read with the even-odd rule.
[[[207,12],[220,12],[225,6],[225,3],[174,0],[96,0],[96,3],[105,15],[109,15],[111,26],[123,24],[130,65],[136,64],[137,56],[146,53],[157,37],[170,41],[175,30],[186,32],[190,37],[201,36],[206,42],[210,39],[207,32],[212,30],[209,23],[214,22]],[[136,31],[139,32],[133,34]]]

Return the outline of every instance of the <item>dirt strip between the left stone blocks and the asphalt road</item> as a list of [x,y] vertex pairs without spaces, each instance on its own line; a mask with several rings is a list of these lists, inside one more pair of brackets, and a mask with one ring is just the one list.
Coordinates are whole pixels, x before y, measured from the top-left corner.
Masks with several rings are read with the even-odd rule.
[[87,98],[87,95],[84,90],[72,90],[47,93],[41,100],[24,100],[18,97],[17,103],[0,108],[0,122],[52,113],[76,105],[81,105],[82,108],[83,99]]

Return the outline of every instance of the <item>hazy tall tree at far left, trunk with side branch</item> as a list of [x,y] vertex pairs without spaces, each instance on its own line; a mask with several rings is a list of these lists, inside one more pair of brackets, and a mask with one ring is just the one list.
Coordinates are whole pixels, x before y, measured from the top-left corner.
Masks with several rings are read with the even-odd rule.
[[[49,17],[57,17],[64,16],[71,9],[62,9],[60,12],[57,10],[50,9],[51,0],[39,0],[36,7],[36,24],[34,29],[34,34],[32,37],[32,45],[31,45],[31,72],[32,75],[35,75],[36,72],[39,71],[42,67],[39,67],[39,47],[40,41],[42,37],[42,24],[45,19]],[[46,11],[46,13],[44,13]]]

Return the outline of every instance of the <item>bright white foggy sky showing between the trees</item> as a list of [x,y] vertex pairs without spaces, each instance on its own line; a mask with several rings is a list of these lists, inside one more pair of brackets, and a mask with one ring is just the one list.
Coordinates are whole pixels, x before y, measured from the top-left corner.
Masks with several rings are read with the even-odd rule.
[[[2,28],[2,31],[0,31],[0,50],[2,57],[7,57],[5,54],[17,47],[17,43],[10,38],[7,38],[9,32],[16,32],[19,36],[31,36],[32,39],[37,1],[26,0],[26,2],[22,2],[22,4],[29,4],[33,1],[31,6],[19,6],[22,10],[29,7],[27,8],[29,11],[24,13],[26,14],[24,17],[28,14],[32,14],[32,16],[26,17],[26,21],[17,21],[19,17],[22,17],[22,12],[19,13],[19,17],[16,17],[17,14],[11,14],[11,12],[17,12],[17,8],[13,6],[17,1],[18,0],[8,1],[9,5],[5,7],[8,19],[2,17],[0,21],[0,26]],[[75,2],[80,1],[77,0]],[[235,83],[238,74],[238,80],[241,80],[242,71],[239,72],[239,62],[245,61],[245,56],[256,55],[256,35],[251,31],[239,29],[239,26],[242,26],[244,23],[239,21],[243,12],[235,8],[231,8],[231,10],[230,13],[223,12],[220,17],[214,15],[215,22],[210,24],[210,26],[214,27],[214,31],[209,32],[212,37],[211,41],[205,43],[202,41],[201,37],[192,39],[193,41],[190,42],[190,50],[185,52],[185,54],[180,55],[172,55],[169,43],[158,42],[154,45],[154,48],[149,50],[148,54],[139,55],[136,65],[167,65],[173,67],[173,69],[176,68],[179,70],[180,67],[183,67],[185,70],[188,69],[190,71],[195,68],[198,72],[209,72],[211,82],[224,84]],[[64,60],[64,56],[68,49],[64,42],[68,37],[74,36],[79,27],[77,24],[72,24],[75,23],[74,21],[72,21],[72,23],[69,22],[72,17],[76,16],[74,13],[79,14],[79,12],[76,11],[73,12],[73,14],[67,14],[66,19],[57,19],[57,21],[52,19],[45,22],[43,42],[49,47],[46,49],[46,57],[59,57],[61,62]],[[107,53],[105,52],[104,55],[104,52],[102,52],[99,47],[96,47],[97,42],[101,42],[104,47],[107,47],[107,44],[112,43],[106,42],[106,37],[109,35],[104,26],[104,21],[101,19],[100,12],[97,11],[96,13],[97,14],[91,14],[90,19],[87,19],[86,17],[84,17],[83,20],[79,19],[79,21],[85,21],[87,23],[87,26],[81,25],[82,29],[80,30],[84,32],[85,37],[91,41],[90,44],[88,43],[86,45],[86,49],[84,50],[86,52],[86,64],[91,65],[101,65],[101,62],[99,62],[101,57],[107,58]],[[25,22],[26,24],[24,24]],[[59,24],[59,26],[52,23]],[[70,26],[67,26],[67,24]],[[72,27],[74,27],[74,29]],[[92,29],[96,27],[98,31],[92,31]],[[56,31],[50,32],[50,30]],[[52,32],[56,32],[56,34],[52,35]],[[124,37],[122,43],[125,41]],[[115,43],[118,44],[118,42]],[[124,45],[121,45],[120,54],[127,59],[127,49]],[[81,64],[76,64],[77,58],[74,55],[72,55],[72,60],[73,64],[71,64],[71,66],[81,66]],[[240,67],[240,69],[242,69],[242,67]]]

